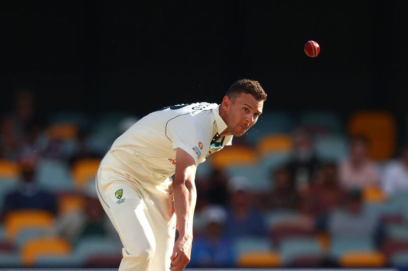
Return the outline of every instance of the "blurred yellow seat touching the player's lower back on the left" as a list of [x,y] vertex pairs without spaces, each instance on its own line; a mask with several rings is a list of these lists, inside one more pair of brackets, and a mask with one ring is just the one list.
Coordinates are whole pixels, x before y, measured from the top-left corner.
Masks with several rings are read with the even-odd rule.
[[82,159],[72,166],[72,176],[75,186],[83,189],[90,179],[95,179],[100,159]]

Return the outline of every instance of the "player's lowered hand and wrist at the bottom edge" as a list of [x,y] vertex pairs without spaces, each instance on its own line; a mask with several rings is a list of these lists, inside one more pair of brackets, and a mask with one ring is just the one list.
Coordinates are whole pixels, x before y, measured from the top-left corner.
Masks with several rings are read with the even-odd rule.
[[190,261],[192,237],[177,238],[171,255],[171,271],[181,271]]

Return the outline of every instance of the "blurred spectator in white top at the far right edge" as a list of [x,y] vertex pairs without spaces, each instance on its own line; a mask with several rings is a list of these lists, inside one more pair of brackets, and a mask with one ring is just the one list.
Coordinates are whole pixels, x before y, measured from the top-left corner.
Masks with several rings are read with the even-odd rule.
[[402,147],[399,159],[386,167],[382,189],[388,197],[408,191],[408,143]]

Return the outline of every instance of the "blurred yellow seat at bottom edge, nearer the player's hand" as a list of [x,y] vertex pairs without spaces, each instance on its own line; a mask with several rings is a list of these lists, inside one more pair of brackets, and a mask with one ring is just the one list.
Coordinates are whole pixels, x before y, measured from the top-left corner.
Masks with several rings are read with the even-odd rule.
[[245,252],[238,257],[240,268],[266,268],[282,266],[282,257],[275,252]]

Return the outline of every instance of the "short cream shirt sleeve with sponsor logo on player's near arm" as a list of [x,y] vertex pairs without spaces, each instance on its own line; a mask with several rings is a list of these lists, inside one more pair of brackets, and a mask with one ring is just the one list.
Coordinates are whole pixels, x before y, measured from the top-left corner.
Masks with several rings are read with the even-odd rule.
[[198,166],[199,160],[205,157],[204,143],[209,140],[207,131],[194,121],[191,115],[181,115],[171,119],[166,126],[166,135],[172,142],[173,149],[182,148],[194,159]]

